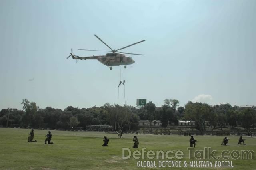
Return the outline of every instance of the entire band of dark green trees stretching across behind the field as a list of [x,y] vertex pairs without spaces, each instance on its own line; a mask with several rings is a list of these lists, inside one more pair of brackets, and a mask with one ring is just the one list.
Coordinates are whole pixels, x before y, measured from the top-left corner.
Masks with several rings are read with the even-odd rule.
[[196,128],[205,130],[206,123],[213,130],[222,129],[226,123],[232,127],[238,125],[249,130],[256,123],[256,111],[252,108],[241,109],[230,104],[208,105],[206,103],[188,103],[179,107],[177,99],[164,99],[161,107],[156,107],[152,101],[143,107],[110,105],[105,103],[101,107],[77,108],[68,106],[64,110],[46,107],[39,108],[35,102],[23,99],[23,110],[2,109],[0,111],[0,125],[3,127],[51,128],[70,129],[72,127],[85,128],[88,125],[110,125],[113,130],[138,130],[139,120],[149,120],[150,126],[160,120],[162,127],[178,125],[178,120],[196,122]]

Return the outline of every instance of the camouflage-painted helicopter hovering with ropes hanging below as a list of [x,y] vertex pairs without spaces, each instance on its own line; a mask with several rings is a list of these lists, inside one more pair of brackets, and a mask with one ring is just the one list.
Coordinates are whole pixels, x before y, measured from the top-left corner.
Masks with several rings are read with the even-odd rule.
[[[144,55],[144,54],[134,54],[134,53],[124,53],[121,52],[119,50],[121,49],[125,49],[127,47],[130,47],[132,45],[135,45],[137,43],[141,43],[144,42],[145,40],[133,43],[131,45],[122,47],[120,49],[111,49],[104,41],[102,41],[97,35],[94,34],[94,36],[96,36],[96,38],[98,38],[102,43],[104,43],[111,51],[106,51],[106,52],[112,52],[112,53],[107,53],[106,55],[98,55],[98,56],[89,56],[89,57],[79,57],[78,55],[74,55],[73,54],[73,50],[71,49],[71,53],[70,55],[67,57],[67,59],[69,57],[72,57],[73,59],[77,59],[78,60],[87,60],[87,59],[97,59],[98,61],[100,61],[100,63],[106,65],[109,67],[110,70],[112,70],[112,66],[119,66],[119,65],[124,65],[124,68],[126,68],[126,65],[130,65],[135,63],[135,61],[131,58],[126,56],[125,54],[132,54],[132,55]],[[78,50],[84,50],[84,51],[102,51],[102,50],[92,50],[92,49],[78,49]],[[117,52],[119,51],[119,52]]]

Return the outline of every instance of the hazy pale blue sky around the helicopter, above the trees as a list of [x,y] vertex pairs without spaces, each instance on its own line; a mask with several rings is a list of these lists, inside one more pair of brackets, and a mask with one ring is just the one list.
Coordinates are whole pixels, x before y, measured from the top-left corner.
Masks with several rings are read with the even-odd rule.
[[[256,105],[255,0],[0,0],[0,109],[147,99]],[[113,67],[70,55],[122,52]],[[121,78],[120,78],[121,77]],[[125,86],[119,81],[125,80]]]

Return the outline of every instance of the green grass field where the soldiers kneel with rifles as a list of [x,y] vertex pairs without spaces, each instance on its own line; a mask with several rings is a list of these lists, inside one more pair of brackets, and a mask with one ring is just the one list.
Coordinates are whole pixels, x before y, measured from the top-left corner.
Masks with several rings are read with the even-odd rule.
[[[139,139],[139,148],[133,149],[132,138],[134,134],[124,134],[122,139],[117,134],[106,134],[104,132],[70,132],[70,131],[52,131],[52,142],[54,144],[44,144],[45,135],[48,130],[35,130],[34,140],[38,142],[28,143],[27,137],[29,129],[20,128],[0,128],[0,169],[29,169],[29,170],[51,170],[51,169],[149,169],[146,167],[138,167],[138,161],[153,161],[156,167],[152,169],[237,169],[250,170],[256,169],[256,161],[254,159],[236,160],[230,158],[228,160],[214,159],[189,159],[189,136],[178,135],[137,135]],[[103,136],[106,135],[110,142],[108,147],[102,147]],[[253,150],[256,151],[256,138],[246,139],[246,145],[238,146],[239,136],[228,136],[230,139],[228,146],[221,146],[224,136],[194,136],[198,140],[195,150],[204,150],[204,147],[211,147],[217,150],[216,157],[221,156],[223,150]],[[130,150],[142,151],[142,147],[146,147],[146,154],[149,150],[168,150],[174,153],[168,156],[175,156],[176,150],[182,150],[184,156],[178,160],[176,158],[164,159],[122,159],[122,148],[130,148]],[[126,152],[125,156],[128,155]],[[228,155],[228,154],[227,154]],[[236,156],[236,155],[234,155]],[[200,157],[200,155],[198,156]],[[203,158],[201,156],[200,158]],[[214,167],[215,161],[232,161],[233,167]],[[158,161],[181,161],[181,167],[158,167]],[[212,161],[212,168],[209,167],[190,167],[184,168],[184,161]],[[161,164],[163,165],[163,164]],[[142,162],[143,166],[143,162]]]

